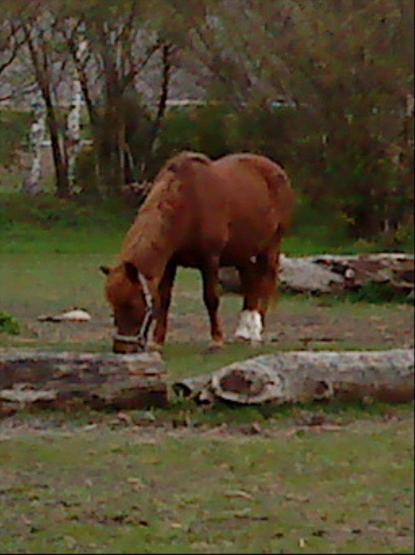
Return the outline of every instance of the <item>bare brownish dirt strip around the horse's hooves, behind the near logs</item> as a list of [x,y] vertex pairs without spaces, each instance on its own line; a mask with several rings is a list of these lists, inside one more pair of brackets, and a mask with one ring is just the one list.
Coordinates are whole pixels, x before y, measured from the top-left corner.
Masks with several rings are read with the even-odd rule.
[[[226,339],[233,340],[242,299],[223,297],[222,319]],[[19,314],[19,312],[21,314]],[[16,344],[29,342],[100,342],[110,349],[114,326],[101,310],[91,322],[37,322],[17,308],[29,334],[15,338]],[[206,309],[198,292],[176,292],[169,315],[167,342],[208,342],[209,325]],[[409,305],[366,305],[337,302],[330,304],[318,299],[290,297],[269,311],[264,331],[264,344],[299,348],[413,347],[413,307]]]

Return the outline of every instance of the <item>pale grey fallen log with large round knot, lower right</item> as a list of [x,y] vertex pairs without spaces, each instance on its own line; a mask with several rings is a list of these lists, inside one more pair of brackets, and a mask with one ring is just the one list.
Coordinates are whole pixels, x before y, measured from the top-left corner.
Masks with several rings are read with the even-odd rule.
[[177,381],[176,393],[197,403],[376,399],[414,396],[414,351],[294,351],[235,362],[210,375]]

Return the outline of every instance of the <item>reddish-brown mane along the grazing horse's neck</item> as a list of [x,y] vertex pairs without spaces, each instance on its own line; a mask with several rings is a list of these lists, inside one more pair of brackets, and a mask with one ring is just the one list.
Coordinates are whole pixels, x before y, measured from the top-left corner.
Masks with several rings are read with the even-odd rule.
[[134,258],[134,253],[142,249],[161,248],[160,235],[163,231],[170,233],[178,215],[183,172],[194,163],[209,165],[212,160],[202,153],[183,151],[163,164],[127,233],[121,249],[122,260]]

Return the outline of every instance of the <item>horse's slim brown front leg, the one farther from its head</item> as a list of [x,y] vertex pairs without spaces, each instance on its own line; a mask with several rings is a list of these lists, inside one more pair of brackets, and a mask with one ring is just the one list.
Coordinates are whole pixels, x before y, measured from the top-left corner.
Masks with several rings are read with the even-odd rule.
[[219,256],[212,256],[205,261],[201,268],[203,280],[203,301],[211,322],[211,347],[223,346],[223,332],[221,321],[218,317],[219,307]]

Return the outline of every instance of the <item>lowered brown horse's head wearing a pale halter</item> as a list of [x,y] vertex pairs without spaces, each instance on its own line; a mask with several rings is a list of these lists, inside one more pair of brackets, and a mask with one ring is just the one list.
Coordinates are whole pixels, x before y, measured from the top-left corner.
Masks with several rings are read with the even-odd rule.
[[115,268],[101,266],[100,269],[107,276],[105,293],[114,309],[117,328],[112,350],[124,354],[142,351],[153,317],[146,278],[130,262]]

